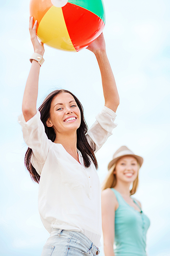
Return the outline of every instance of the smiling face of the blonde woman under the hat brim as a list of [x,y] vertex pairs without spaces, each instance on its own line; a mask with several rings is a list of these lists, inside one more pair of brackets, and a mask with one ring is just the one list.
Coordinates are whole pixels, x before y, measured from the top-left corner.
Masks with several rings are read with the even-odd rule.
[[134,182],[138,175],[138,162],[132,156],[123,156],[116,164],[114,174],[116,174],[117,181]]

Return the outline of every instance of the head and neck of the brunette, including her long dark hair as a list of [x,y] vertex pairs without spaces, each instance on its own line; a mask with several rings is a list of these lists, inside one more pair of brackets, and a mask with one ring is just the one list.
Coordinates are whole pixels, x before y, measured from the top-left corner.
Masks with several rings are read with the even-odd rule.
[[[87,136],[85,136],[88,128],[84,119],[83,107],[78,98],[67,90],[55,90],[47,96],[38,110],[48,139],[54,143],[62,144],[67,148],[67,152],[72,148],[74,142],[77,142],[77,149],[82,154],[85,167],[88,168],[90,166],[90,157],[97,169],[98,163],[94,154],[96,145],[92,141],[89,144]],[[75,117],[72,117],[73,114]],[[75,137],[72,136],[72,132],[76,133]],[[76,141],[74,141],[75,139]],[[69,142],[71,143],[70,145]],[[25,156],[25,164],[32,179],[39,183],[40,175],[31,163],[32,153],[32,149],[28,148]],[[79,162],[78,154],[74,155],[72,152],[71,155]]]

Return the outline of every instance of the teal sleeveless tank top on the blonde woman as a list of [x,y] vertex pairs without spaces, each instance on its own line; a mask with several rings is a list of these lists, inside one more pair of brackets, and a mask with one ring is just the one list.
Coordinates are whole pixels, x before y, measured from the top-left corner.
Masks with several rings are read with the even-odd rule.
[[[126,203],[116,189],[111,189],[119,204],[115,211],[115,256],[146,256],[146,233],[150,226],[149,218],[142,210],[138,212]],[[135,200],[134,202],[137,204]],[[141,208],[139,207],[139,209]]]

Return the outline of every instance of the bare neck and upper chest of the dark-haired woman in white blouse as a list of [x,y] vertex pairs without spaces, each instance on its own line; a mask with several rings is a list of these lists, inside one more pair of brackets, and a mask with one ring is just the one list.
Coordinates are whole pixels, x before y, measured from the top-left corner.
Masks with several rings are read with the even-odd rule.
[[54,143],[62,144],[62,146],[71,156],[73,156],[74,158],[78,158],[76,131],[74,133],[69,133],[69,134],[63,134],[63,133],[57,132]]

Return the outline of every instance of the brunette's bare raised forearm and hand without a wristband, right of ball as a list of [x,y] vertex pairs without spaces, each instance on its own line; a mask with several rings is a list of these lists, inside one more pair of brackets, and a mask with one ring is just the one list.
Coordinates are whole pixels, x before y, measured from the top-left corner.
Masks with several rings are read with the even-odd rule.
[[103,33],[101,33],[101,35],[99,35],[99,37],[94,42],[92,42],[87,47],[87,49],[95,54],[99,64],[102,77],[105,106],[116,112],[119,105],[119,94],[117,91],[112,68],[107,58]]

